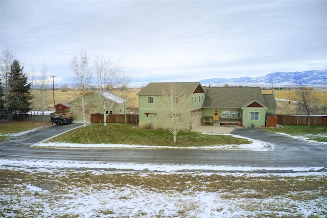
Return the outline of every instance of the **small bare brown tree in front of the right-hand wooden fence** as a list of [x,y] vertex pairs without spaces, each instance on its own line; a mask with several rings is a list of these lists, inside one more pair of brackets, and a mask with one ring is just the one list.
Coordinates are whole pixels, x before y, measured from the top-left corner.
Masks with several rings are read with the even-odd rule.
[[295,100],[300,102],[297,104],[298,111],[308,116],[308,131],[310,131],[310,115],[316,112],[318,99],[312,93],[312,89],[301,86],[295,92]]

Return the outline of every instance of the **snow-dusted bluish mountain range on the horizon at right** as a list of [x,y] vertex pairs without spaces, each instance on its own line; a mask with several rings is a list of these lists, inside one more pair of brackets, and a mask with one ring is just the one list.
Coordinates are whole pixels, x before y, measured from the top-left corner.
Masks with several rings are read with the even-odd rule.
[[261,77],[239,77],[232,79],[212,78],[200,81],[202,85],[224,86],[260,86],[260,87],[284,87],[284,86],[312,86],[315,88],[327,88],[327,69],[320,71],[303,72],[274,72]]

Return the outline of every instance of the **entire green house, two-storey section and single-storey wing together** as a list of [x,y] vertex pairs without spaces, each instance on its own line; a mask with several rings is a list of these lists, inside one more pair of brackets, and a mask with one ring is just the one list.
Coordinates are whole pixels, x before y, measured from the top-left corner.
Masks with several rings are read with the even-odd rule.
[[[156,102],[171,83],[149,83],[137,95],[139,98],[139,123],[155,122]],[[199,112],[191,127],[204,123],[242,124],[265,126],[266,116],[277,107],[272,94],[262,94],[260,87],[206,87],[200,82],[176,83],[186,91],[192,112]],[[185,127],[185,129],[188,129]]]

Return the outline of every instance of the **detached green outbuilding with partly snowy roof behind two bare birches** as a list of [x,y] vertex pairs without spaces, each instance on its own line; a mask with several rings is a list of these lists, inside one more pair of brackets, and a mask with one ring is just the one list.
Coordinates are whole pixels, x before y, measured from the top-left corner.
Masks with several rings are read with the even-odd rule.
[[[124,114],[125,100],[110,92],[105,92],[104,96],[110,99],[107,105],[107,113],[109,114]],[[113,104],[111,104],[113,102]],[[82,114],[82,99],[80,97],[69,102],[71,105],[71,112],[74,113],[74,120],[83,120]],[[84,98],[86,120],[90,121],[91,114],[103,114],[103,106],[101,104],[99,93],[90,91]],[[111,107],[112,106],[112,107]]]

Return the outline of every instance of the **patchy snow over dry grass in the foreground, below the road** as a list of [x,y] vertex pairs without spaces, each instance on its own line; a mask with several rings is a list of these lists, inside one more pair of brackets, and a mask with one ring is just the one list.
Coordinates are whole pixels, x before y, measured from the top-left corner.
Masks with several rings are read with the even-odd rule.
[[[296,216],[308,217],[309,215],[323,215],[327,211],[327,199],[324,197],[308,198],[314,195],[313,191],[300,191],[275,195],[270,198],[244,198],[232,197],[231,192],[225,190],[193,191],[194,182],[189,183],[190,189],[178,191],[176,188],[157,190],[143,188],[142,185],[113,186],[110,181],[87,186],[79,185],[78,174],[87,175],[122,175],[121,177],[135,175],[136,177],[154,177],[158,175],[177,174],[180,177],[211,177],[221,175],[223,177],[248,177],[248,180],[288,180],[290,177],[308,178],[318,180],[327,177],[327,172],[306,173],[205,173],[175,172],[179,166],[141,166],[130,165],[133,169],[144,167],[160,172],[122,172],[120,170],[87,170],[74,171],[72,169],[58,169],[57,167],[71,167],[73,165],[83,167],[97,167],[95,163],[82,162],[52,162],[52,161],[6,161],[2,160],[0,169],[32,173],[34,178],[40,178],[36,182],[19,183],[14,189],[9,187],[0,189],[0,202],[3,217],[29,216],[29,217],[270,217],[270,216]],[[16,165],[16,166],[15,166]],[[28,167],[30,166],[30,167]],[[108,167],[113,167],[109,164]],[[119,167],[115,165],[114,167]],[[125,166],[126,167],[126,166]],[[152,168],[151,168],[152,167]],[[166,167],[166,168],[165,168]],[[185,166],[183,166],[185,168]],[[187,168],[187,166],[186,166]],[[230,170],[233,170],[231,167]],[[45,172],[46,174],[43,174]],[[75,174],[74,174],[75,173]],[[74,176],[75,175],[75,176]],[[155,176],[153,176],[155,175]],[[68,179],[74,178],[74,179]],[[160,176],[159,176],[160,178]],[[258,179],[256,179],[258,178]],[[51,179],[49,185],[44,183]],[[77,180],[76,180],[77,179]],[[139,178],[138,178],[139,179]],[[34,179],[35,180],[35,179]],[[83,180],[88,180],[85,178]],[[33,179],[32,179],[33,181]],[[64,183],[63,183],[64,181]],[[153,181],[156,182],[155,180]],[[62,184],[60,191],[52,188],[51,184]],[[213,182],[215,183],[215,182]],[[69,184],[69,185],[68,185]],[[269,187],[267,187],[269,189]],[[242,190],[242,194],[255,193],[254,190]],[[294,195],[303,195],[301,200],[290,198]],[[230,197],[229,197],[230,195]]]

